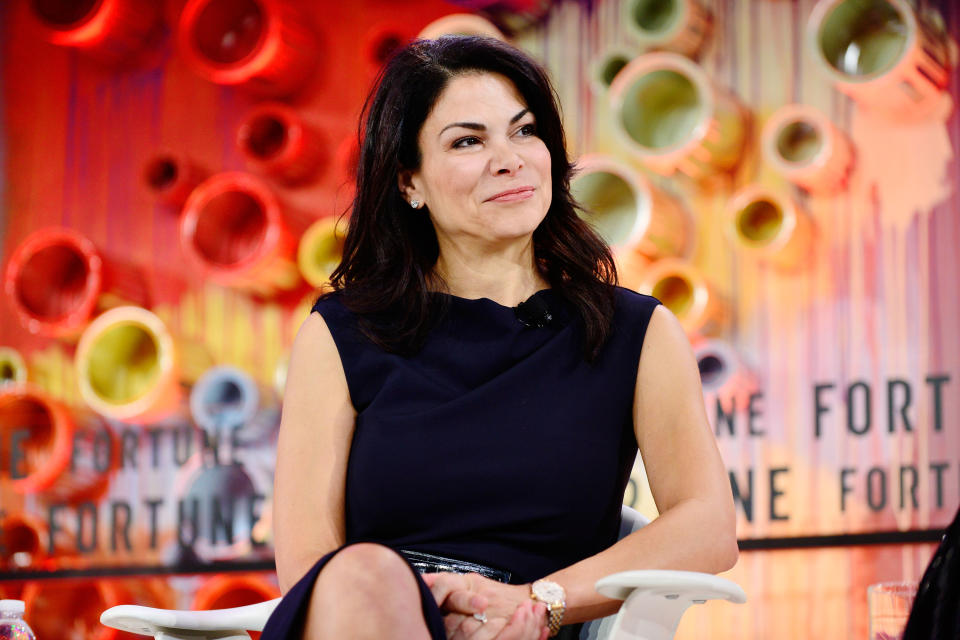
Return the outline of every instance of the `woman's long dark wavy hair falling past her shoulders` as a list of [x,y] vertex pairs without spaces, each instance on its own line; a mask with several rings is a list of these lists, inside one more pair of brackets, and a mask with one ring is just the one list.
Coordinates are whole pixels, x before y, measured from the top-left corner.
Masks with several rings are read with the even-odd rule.
[[[416,170],[420,129],[451,78],[499,73],[513,82],[550,152],[553,199],[533,233],[534,259],[550,286],[582,319],[584,357],[592,361],[610,330],[616,267],[609,247],[578,214],[570,195],[556,92],[526,54],[492,38],[418,40],[384,66],[360,119],[356,195],[333,291],[359,317],[360,330],[382,348],[415,353],[446,311],[446,283],[433,272],[439,253],[429,216],[402,197],[401,170]],[[329,291],[325,296],[333,295]]]

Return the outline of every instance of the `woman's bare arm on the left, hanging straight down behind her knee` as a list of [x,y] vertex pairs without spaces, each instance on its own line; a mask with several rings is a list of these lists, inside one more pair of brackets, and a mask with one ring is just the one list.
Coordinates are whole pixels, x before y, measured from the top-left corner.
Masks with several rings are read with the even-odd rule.
[[330,330],[319,313],[290,352],[273,489],[274,547],[286,593],[345,541],[344,485],[356,412]]

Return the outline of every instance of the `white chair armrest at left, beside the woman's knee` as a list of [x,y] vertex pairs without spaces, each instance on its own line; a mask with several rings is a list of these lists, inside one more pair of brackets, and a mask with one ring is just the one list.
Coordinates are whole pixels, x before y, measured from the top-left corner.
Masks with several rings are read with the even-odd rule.
[[[280,598],[233,609],[180,611],[121,604],[100,614],[108,627],[155,638],[248,638],[246,631],[262,631]],[[206,632],[206,633],[198,633]]]

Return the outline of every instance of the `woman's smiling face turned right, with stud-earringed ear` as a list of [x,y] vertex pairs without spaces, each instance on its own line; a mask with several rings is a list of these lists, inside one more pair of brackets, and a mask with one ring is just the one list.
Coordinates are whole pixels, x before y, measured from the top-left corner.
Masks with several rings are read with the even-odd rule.
[[513,83],[497,73],[452,78],[420,130],[420,169],[403,172],[441,241],[500,244],[529,236],[550,208],[550,152]]

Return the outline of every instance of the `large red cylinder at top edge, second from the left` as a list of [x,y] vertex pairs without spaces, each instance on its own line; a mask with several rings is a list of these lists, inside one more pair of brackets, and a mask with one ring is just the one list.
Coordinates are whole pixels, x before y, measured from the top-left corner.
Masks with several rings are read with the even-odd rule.
[[188,0],[177,42],[187,63],[217,84],[288,95],[313,72],[316,34],[280,0]]

